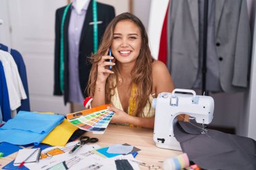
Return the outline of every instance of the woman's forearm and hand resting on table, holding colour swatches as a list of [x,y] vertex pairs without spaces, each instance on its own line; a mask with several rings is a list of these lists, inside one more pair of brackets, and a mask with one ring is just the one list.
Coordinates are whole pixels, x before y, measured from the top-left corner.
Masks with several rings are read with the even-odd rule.
[[143,128],[154,128],[155,118],[140,118],[135,116],[129,116],[123,110],[119,110],[113,106],[108,107],[108,110],[115,112],[112,123],[119,124],[133,124],[135,126],[141,126]]

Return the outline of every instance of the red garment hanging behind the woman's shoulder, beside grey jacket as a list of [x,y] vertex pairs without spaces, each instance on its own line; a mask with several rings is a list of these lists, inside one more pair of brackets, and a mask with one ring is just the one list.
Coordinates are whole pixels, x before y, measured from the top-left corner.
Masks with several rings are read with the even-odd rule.
[[[170,1],[169,1],[170,4]],[[167,17],[168,17],[168,8],[167,7],[165,17],[164,17],[164,23],[162,25],[162,33],[160,38],[160,46],[159,46],[159,52],[158,52],[158,60],[164,62],[166,64],[167,62]]]

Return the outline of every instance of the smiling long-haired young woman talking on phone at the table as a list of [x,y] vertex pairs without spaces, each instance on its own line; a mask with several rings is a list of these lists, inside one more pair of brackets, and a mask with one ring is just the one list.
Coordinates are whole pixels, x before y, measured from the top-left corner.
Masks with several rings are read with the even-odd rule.
[[108,109],[115,112],[111,122],[154,128],[152,99],[173,89],[166,65],[152,58],[141,21],[131,13],[115,17],[92,56],[88,84],[92,107],[111,103]]

